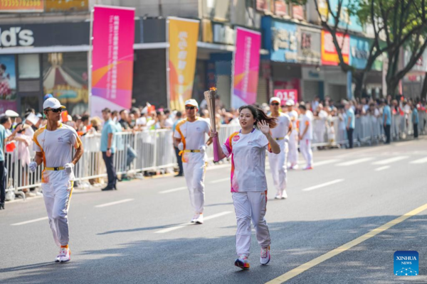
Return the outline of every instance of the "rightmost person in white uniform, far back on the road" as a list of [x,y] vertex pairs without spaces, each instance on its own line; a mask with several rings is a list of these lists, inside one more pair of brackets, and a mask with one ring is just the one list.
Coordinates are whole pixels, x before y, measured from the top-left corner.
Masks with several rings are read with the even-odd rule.
[[313,168],[313,152],[311,142],[313,138],[312,116],[307,114],[305,105],[300,104],[300,151],[305,158],[307,165],[304,170],[312,170]]

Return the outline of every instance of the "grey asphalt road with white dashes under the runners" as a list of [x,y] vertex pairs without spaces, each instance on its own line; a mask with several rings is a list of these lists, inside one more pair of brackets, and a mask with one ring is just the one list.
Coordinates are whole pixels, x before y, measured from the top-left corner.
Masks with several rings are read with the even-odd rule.
[[[120,182],[114,192],[75,190],[72,255],[64,264],[53,262],[58,249],[43,199],[9,202],[0,211],[0,283],[281,283],[292,273],[286,283],[427,283],[427,210],[322,259],[425,205],[426,166],[426,138],[315,151],[314,170],[288,173],[288,200],[273,200],[268,170],[272,259],[260,266],[253,235],[249,271],[233,266],[229,165],[206,172],[203,225],[186,224],[192,212],[184,178]],[[418,251],[420,275],[394,275],[394,251],[406,250]]]

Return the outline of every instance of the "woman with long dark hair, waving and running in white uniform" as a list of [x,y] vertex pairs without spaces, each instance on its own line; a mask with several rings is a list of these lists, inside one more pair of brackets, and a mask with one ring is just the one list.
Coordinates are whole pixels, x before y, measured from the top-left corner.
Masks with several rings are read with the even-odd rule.
[[[231,134],[223,146],[218,142],[219,157],[231,155],[231,194],[237,219],[235,266],[250,268],[251,219],[256,239],[261,246],[260,263],[270,261],[270,232],[264,219],[267,206],[265,178],[265,149],[280,153],[280,146],[270,135],[277,119],[267,116],[262,109],[243,106],[239,109],[241,130]],[[254,128],[258,126],[257,128]],[[218,136],[218,133],[211,133]]]

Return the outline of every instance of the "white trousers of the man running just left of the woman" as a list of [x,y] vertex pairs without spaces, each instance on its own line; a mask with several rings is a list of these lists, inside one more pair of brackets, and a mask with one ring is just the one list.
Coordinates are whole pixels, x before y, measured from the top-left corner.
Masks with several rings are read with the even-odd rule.
[[193,207],[194,212],[203,213],[206,163],[182,163],[182,167],[186,185],[189,188],[191,207]]

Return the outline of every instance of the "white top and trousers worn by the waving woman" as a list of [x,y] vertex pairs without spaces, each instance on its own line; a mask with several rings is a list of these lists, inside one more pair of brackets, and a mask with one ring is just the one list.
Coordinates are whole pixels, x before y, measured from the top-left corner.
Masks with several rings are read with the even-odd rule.
[[251,220],[258,244],[262,249],[270,246],[270,232],[264,219],[268,190],[265,149],[271,151],[270,144],[257,129],[248,134],[235,132],[222,146],[223,153],[227,157],[231,155],[231,194],[236,211],[236,253],[239,258],[248,258],[250,254]]

